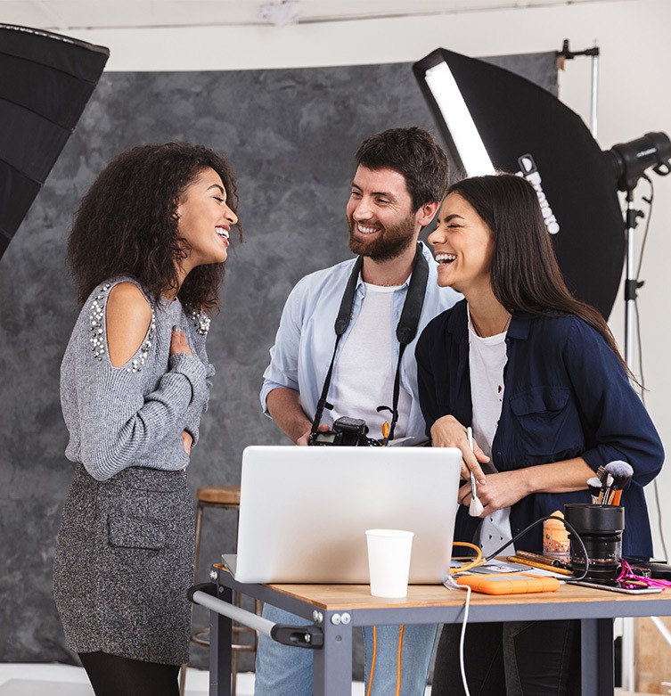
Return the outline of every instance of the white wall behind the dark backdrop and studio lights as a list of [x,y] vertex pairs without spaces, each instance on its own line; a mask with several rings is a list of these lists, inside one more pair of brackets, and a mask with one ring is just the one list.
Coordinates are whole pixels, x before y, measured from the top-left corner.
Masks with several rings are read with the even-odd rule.
[[[464,3],[467,6],[467,3]],[[240,70],[416,61],[438,46],[471,56],[560,50],[569,39],[574,51],[601,48],[599,135],[601,148],[626,143],[650,131],[671,133],[669,80],[671,3],[618,0],[547,8],[461,12],[417,19],[332,22],[283,29],[143,29],[78,32],[77,37],[110,47],[109,70]],[[568,61],[561,75],[561,99],[589,122],[592,63]],[[418,93],[418,98],[420,98]],[[639,297],[646,401],[671,450],[671,339],[668,296],[671,273],[671,176],[651,173],[656,187],[651,236],[647,243]],[[648,187],[642,182],[637,202]],[[642,204],[643,205],[643,204]],[[642,238],[642,226],[636,233]],[[636,251],[638,258],[638,251]],[[594,268],[598,274],[599,269]],[[610,319],[624,348],[624,301]],[[636,356],[637,360],[637,356]],[[634,362],[638,373],[638,363]],[[671,480],[671,467],[659,477],[659,491]],[[652,493],[652,488],[649,489]],[[661,556],[653,495],[649,495],[655,549]],[[671,550],[671,511],[663,511]]]

